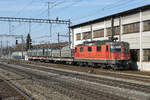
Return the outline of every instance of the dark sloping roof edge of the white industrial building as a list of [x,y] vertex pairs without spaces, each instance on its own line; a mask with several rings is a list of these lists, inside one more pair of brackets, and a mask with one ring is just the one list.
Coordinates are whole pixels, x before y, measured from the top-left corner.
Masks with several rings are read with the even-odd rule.
[[90,24],[93,24],[93,23],[104,21],[106,19],[110,19],[112,17],[115,18],[115,17],[119,17],[119,16],[125,16],[125,15],[128,15],[128,14],[134,14],[134,13],[139,12],[140,10],[147,10],[147,9],[150,9],[150,4],[142,6],[142,7],[134,8],[134,9],[131,9],[131,10],[127,10],[127,11],[124,11],[124,12],[120,12],[120,13],[117,13],[117,14],[112,14],[112,15],[109,15],[109,16],[104,16],[104,17],[101,17],[101,18],[98,18],[98,19],[83,22],[83,23],[80,23],[80,24],[76,24],[76,25],[71,26],[70,28],[76,28],[76,27],[81,27],[81,26],[84,26],[84,25],[90,25]]

